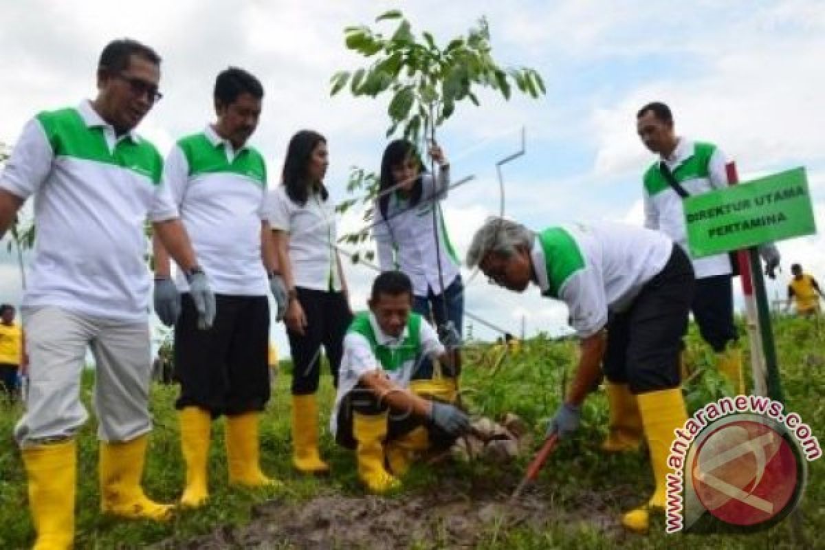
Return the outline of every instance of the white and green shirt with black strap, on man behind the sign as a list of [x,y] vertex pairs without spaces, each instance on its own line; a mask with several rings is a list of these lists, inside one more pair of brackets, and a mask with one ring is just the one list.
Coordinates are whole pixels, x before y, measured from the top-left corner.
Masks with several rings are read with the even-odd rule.
[[[676,149],[664,159],[676,181],[690,194],[701,195],[728,186],[728,172],[724,154],[712,143],[692,142],[680,138]],[[644,227],[658,229],[673,239],[688,256],[685,211],[683,199],[667,184],[659,170],[659,161],[653,162],[644,173]],[[731,272],[727,254],[694,258],[696,279]]]

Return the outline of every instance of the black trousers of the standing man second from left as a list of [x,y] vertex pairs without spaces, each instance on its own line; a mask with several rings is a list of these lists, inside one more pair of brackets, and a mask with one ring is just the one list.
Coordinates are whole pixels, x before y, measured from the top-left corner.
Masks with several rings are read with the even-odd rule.
[[175,407],[200,407],[213,417],[263,411],[270,397],[269,302],[266,296],[216,294],[214,323],[197,327],[190,294],[181,296],[175,326]]

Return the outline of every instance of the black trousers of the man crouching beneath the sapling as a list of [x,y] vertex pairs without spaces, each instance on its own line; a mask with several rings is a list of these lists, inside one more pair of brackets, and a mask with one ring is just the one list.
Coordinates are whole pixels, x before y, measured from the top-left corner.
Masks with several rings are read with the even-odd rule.
[[436,449],[449,449],[450,445],[455,442],[455,436],[447,434],[432,421],[416,416],[411,411],[390,409],[385,403],[379,402],[375,393],[359,383],[350,393],[347,393],[338,407],[335,433],[337,444],[346,449],[356,448],[357,442],[352,432],[352,422],[356,412],[361,415],[380,415],[385,411],[389,411],[385,441],[398,440],[423,425],[430,436],[430,444]]

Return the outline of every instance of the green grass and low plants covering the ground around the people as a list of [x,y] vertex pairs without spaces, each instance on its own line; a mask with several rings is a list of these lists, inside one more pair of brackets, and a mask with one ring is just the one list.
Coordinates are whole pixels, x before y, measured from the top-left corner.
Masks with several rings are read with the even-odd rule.
[[[798,319],[776,322],[777,348],[782,366],[786,410],[797,411],[825,444],[825,336]],[[747,339],[742,339],[745,343]],[[726,384],[709,369],[712,356],[701,346],[691,327],[688,339],[692,362],[702,369],[703,377],[687,388],[688,402],[701,402],[724,393]],[[481,346],[483,349],[485,346]],[[564,373],[573,367],[576,345],[571,341],[550,341],[537,337],[502,367],[491,372],[480,360],[469,360],[462,378],[466,402],[477,414],[499,416],[512,411],[535,426],[540,440],[542,426],[559,402]],[[468,352],[469,359],[473,354]],[[91,400],[92,373],[85,374],[82,398]],[[177,387],[155,386],[152,412],[155,420],[148,451],[144,486],[150,496],[160,501],[174,501],[180,496],[183,464],[177,433],[177,416],[173,403]],[[322,410],[332,404],[332,388],[323,377]],[[91,407],[90,407],[91,412]],[[21,414],[19,406],[0,405],[0,548],[31,546],[33,529],[26,502],[26,480],[19,453],[12,441],[14,422]],[[270,406],[262,421],[262,466],[273,477],[285,482],[279,492],[239,491],[226,482],[223,422],[213,430],[210,450],[210,505],[178,514],[167,524],[128,522],[98,513],[96,421],[92,417],[78,438],[79,471],[77,499],[77,548],[140,548],[148,543],[174,537],[186,541],[207,534],[222,525],[243,525],[250,519],[252,505],[267,497],[280,496],[286,501],[304,501],[320,491],[338,491],[361,495],[351,453],[338,449],[326,434],[322,452],[332,463],[334,475],[315,479],[295,474],[290,465],[289,377],[282,375],[273,392]],[[538,483],[552,505],[563,510],[580,510],[590,496],[598,496],[606,513],[618,515],[639,503],[652,488],[649,467],[641,454],[608,456],[598,449],[606,430],[606,399],[602,392],[591,396],[583,411],[582,428],[577,437],[565,441],[553,454]],[[326,425],[326,419],[322,420]],[[449,465],[444,471],[414,468],[406,480],[408,491],[437,491],[445,480],[455,487],[465,487],[473,480],[486,477],[521,475],[527,458],[507,466],[486,463]],[[479,548],[825,548],[820,533],[825,529],[825,461],[809,463],[808,487],[801,506],[802,534],[807,545],[799,546],[798,524],[790,520],[769,532],[752,535],[667,536],[655,529],[646,537],[620,535],[606,538],[595,524],[587,521],[571,524],[559,520],[543,531],[511,529],[491,525],[483,533]],[[582,512],[582,517],[585,516]],[[427,547],[429,548],[429,547]]]

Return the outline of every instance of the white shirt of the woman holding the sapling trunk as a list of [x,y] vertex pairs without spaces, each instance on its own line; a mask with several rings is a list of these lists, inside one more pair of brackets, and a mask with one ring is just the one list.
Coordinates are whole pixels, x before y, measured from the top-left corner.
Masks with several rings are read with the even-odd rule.
[[433,198],[446,198],[449,168],[444,167],[439,172],[437,189],[435,178],[430,174],[422,174],[421,181],[421,200],[412,207],[398,192],[389,196],[386,219],[376,201],[372,233],[381,270],[403,271],[413,282],[413,293],[426,297],[430,291],[436,295],[444,291],[441,279],[445,288],[453,283],[459,275],[460,261],[447,234],[441,209],[435,215],[432,212],[436,206]]

